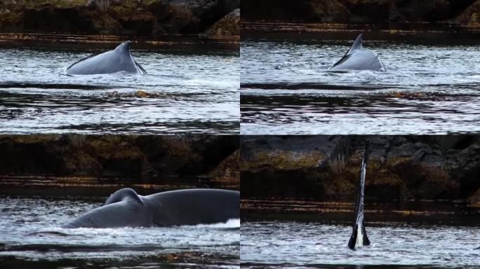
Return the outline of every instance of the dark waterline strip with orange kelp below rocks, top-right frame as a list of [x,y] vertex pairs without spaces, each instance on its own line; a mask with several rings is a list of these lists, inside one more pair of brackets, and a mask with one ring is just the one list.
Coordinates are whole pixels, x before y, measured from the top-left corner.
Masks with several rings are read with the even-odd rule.
[[[396,24],[342,24],[313,22],[284,22],[265,20],[242,20],[242,39],[352,39],[357,34],[368,34],[369,40],[438,39],[436,42],[471,43],[480,40],[480,27],[462,27],[447,23],[396,23]],[[455,40],[457,39],[457,40]]]

